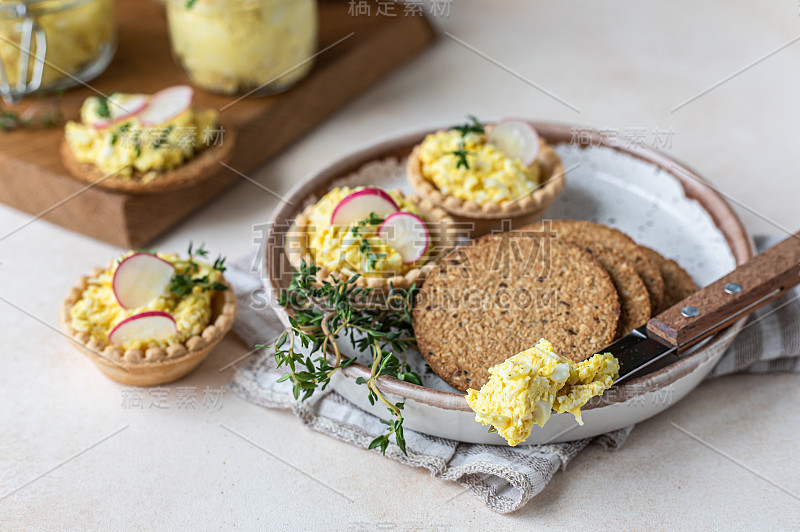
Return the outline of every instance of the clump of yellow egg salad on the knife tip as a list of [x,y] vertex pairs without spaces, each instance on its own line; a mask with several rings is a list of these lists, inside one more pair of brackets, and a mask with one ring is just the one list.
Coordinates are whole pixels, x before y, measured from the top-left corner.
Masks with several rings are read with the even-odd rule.
[[559,356],[542,338],[489,368],[489,374],[480,391],[467,390],[467,403],[475,421],[490,425],[514,446],[530,436],[533,425],[544,426],[552,412],[569,412],[583,425],[581,407],[611,387],[619,362],[605,353],[576,363]]

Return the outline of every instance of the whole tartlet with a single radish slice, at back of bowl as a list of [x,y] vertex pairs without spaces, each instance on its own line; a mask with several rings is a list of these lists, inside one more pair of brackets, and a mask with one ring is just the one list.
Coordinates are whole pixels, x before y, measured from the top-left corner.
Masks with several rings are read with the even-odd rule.
[[[471,122],[425,137],[414,147],[407,177],[414,189],[472,223],[469,236],[530,223],[564,189],[564,167],[555,150],[530,123]],[[468,226],[467,226],[468,227]]]

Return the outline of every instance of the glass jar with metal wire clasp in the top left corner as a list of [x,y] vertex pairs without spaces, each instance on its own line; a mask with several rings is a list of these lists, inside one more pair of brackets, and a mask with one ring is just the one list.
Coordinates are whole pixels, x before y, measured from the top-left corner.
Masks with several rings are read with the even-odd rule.
[[0,0],[0,95],[7,103],[103,72],[116,49],[113,0]]

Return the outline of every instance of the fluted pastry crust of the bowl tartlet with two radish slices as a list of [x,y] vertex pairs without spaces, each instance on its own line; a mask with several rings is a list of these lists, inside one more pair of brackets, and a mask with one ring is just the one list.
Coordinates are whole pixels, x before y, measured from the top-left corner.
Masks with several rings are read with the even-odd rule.
[[[416,194],[405,195],[400,190],[393,190],[392,192],[405,196],[407,200],[419,209],[422,221],[425,222],[431,239],[429,249],[432,249],[433,252],[429,255],[429,259],[425,264],[409,270],[404,275],[394,275],[392,277],[361,276],[355,282],[356,286],[359,288],[370,288],[378,292],[388,292],[390,286],[395,288],[410,288],[412,284],[424,281],[428,272],[433,268],[433,263],[436,259],[445,255],[456,246],[458,240],[456,225],[452,217],[450,217],[444,209],[440,209],[430,200],[417,196]],[[304,260],[306,264],[310,264],[314,261],[308,248],[307,227],[315,207],[316,203],[308,205],[303,212],[297,215],[294,223],[286,233],[284,250],[289,259],[289,264],[297,271],[300,270]],[[346,278],[347,276],[341,272],[332,271],[325,266],[321,266],[316,277],[317,283],[321,285],[324,281],[332,282],[336,278]]]

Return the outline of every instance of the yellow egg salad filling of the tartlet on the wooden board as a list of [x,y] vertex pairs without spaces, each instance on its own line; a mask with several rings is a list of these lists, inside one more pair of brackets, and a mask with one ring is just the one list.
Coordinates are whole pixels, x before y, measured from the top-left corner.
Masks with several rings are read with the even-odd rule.
[[81,107],[81,121],[66,124],[65,138],[75,158],[115,176],[142,172],[142,182],[147,182],[158,172],[181,166],[198,150],[217,142],[214,110],[194,111],[190,107],[157,125],[145,125],[135,114],[97,125],[108,121],[112,112],[124,115],[142,97],[114,93],[108,99],[87,98]]

